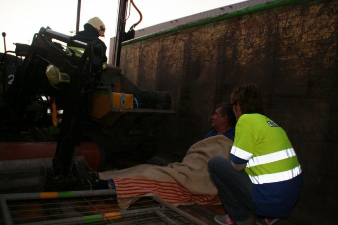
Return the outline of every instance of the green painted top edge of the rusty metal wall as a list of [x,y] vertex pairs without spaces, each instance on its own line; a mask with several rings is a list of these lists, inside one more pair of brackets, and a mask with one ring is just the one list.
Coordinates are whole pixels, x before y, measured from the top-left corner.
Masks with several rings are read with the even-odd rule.
[[216,15],[216,16],[213,16],[213,17],[208,17],[206,19],[193,21],[193,22],[190,22],[188,24],[175,26],[175,27],[172,27],[172,28],[169,28],[169,29],[166,29],[166,30],[161,30],[161,31],[156,32],[156,33],[151,33],[151,34],[148,34],[148,35],[145,35],[145,36],[141,36],[141,37],[123,42],[122,46],[133,44],[133,43],[136,43],[136,42],[140,42],[140,41],[143,41],[143,40],[146,40],[146,39],[162,36],[162,35],[169,34],[169,33],[180,32],[180,31],[183,31],[183,30],[186,30],[186,29],[189,29],[189,28],[192,28],[192,27],[200,26],[200,25],[215,23],[215,22],[218,22],[218,21],[230,19],[230,18],[237,17],[237,16],[243,16],[243,15],[254,13],[254,12],[279,8],[279,7],[282,7],[282,6],[285,6],[285,5],[296,4],[296,3],[305,3],[305,2],[310,2],[310,1],[320,2],[320,0],[271,0],[271,1],[268,1],[268,2],[249,6],[249,7],[246,7],[246,8],[237,9],[237,10],[225,13],[225,14],[220,14],[220,15]]

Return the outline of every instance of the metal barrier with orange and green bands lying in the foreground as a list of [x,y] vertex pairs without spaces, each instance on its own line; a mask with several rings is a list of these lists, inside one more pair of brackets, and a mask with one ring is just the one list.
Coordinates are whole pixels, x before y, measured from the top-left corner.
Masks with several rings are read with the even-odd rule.
[[121,209],[114,190],[4,194],[0,203],[5,225],[206,225],[157,197]]

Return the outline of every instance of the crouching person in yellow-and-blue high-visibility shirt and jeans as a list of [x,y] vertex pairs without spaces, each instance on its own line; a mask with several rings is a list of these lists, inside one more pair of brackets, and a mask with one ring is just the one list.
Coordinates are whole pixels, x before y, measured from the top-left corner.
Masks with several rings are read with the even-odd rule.
[[211,179],[226,215],[221,225],[272,225],[291,214],[302,186],[302,169],[286,132],[264,115],[263,97],[255,84],[244,84],[231,94],[236,116],[230,159],[208,162]]

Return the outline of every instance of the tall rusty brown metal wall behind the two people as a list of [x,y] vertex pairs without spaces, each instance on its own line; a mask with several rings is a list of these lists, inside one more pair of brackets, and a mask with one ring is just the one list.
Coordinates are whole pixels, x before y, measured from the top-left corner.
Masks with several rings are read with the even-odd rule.
[[304,172],[291,219],[335,224],[338,1],[281,2],[129,41],[120,66],[141,89],[172,92],[176,114],[155,136],[163,153],[177,156],[203,138],[213,106],[235,86],[259,85],[267,115],[286,130]]

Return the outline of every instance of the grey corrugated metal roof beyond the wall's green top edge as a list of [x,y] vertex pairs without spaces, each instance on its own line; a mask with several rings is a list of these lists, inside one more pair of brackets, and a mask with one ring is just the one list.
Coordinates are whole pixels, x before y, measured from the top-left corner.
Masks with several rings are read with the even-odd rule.
[[148,26],[139,30],[135,31],[135,38],[137,37],[141,37],[147,34],[151,34],[151,33],[155,33],[158,32],[160,30],[165,30],[174,26],[178,26],[178,25],[184,25],[184,24],[188,24],[190,22],[193,21],[198,21],[198,20],[202,20],[205,18],[209,18],[209,17],[213,17],[213,16],[217,16],[220,14],[225,14],[225,13],[229,13],[231,11],[235,11],[241,8],[246,8],[249,6],[254,6],[260,3],[266,3],[269,2],[271,0],[246,0],[246,1],[242,1],[242,2],[238,2],[235,4],[231,4],[231,5],[225,5],[223,7],[220,8],[215,8],[215,9],[211,9],[205,12],[201,12],[201,13],[197,13],[194,15],[190,15],[190,16],[186,16],[186,17],[182,17],[179,19],[175,19],[175,20],[171,20],[165,23],[161,23],[161,24],[157,24],[157,25],[153,25],[153,26]]

